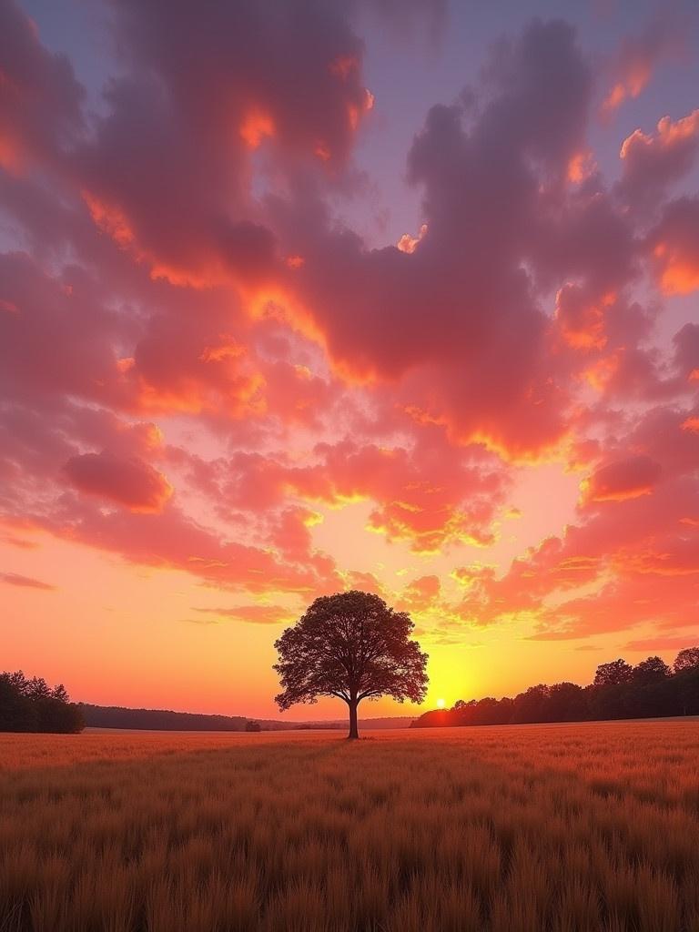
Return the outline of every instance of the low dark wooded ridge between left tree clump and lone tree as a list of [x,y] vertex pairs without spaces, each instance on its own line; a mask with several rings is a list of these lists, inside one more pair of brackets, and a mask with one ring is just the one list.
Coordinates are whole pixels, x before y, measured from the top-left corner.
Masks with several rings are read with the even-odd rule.
[[85,723],[90,728],[125,728],[154,732],[256,732],[297,727],[287,722],[257,722],[240,715],[204,715],[158,708],[89,706],[86,703],[81,703],[80,708]]

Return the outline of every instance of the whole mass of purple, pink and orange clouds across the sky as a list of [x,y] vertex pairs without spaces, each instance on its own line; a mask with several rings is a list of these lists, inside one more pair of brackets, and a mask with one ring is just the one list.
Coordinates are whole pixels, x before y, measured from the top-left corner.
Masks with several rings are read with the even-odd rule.
[[[656,324],[699,287],[699,208],[672,188],[696,113],[639,121],[610,185],[595,60],[567,23],[532,21],[418,116],[418,235],[372,247],[341,219],[371,191],[361,6],[115,2],[96,113],[3,7],[8,536],[187,572],[258,598],[219,612],[251,623],[289,620],[278,594],[356,585],[432,615],[443,643],[678,630],[697,599],[699,331]],[[396,28],[418,15],[389,7]],[[608,112],[675,35],[627,37]],[[586,476],[574,514],[518,502],[508,535],[517,481],[549,459]],[[315,545],[319,515],[358,501],[373,545],[418,555],[403,590]]]

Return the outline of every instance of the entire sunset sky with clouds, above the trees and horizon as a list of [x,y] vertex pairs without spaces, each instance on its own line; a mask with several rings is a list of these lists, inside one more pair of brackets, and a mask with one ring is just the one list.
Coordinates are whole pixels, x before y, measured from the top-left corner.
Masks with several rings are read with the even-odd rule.
[[0,0],[0,669],[272,718],[349,588],[424,707],[672,661],[697,192],[693,0]]

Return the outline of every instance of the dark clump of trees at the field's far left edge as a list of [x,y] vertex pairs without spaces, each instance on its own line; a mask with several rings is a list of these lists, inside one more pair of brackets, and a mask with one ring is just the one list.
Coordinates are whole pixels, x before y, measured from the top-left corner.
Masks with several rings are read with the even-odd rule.
[[77,733],[85,727],[80,706],[62,683],[51,688],[41,677],[0,673],[0,732]]

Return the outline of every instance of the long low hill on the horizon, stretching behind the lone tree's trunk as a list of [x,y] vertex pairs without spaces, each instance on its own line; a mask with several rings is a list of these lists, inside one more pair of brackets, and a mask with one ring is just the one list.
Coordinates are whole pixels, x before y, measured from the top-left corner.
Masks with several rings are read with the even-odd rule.
[[[123,728],[154,732],[244,732],[251,719],[239,715],[203,715],[160,708],[124,708],[79,704],[88,728]],[[298,731],[308,728],[346,728],[344,719],[334,721],[278,721],[253,719],[265,732]],[[409,728],[413,717],[360,720],[365,729]]]

